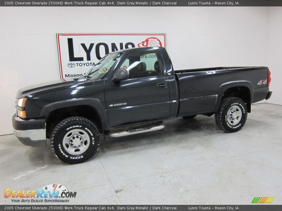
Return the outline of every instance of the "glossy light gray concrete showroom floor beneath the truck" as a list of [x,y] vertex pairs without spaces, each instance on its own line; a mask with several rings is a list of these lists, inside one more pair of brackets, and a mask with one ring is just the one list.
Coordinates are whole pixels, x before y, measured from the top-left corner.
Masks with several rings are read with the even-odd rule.
[[60,183],[70,204],[282,204],[282,106],[256,104],[244,128],[228,134],[214,116],[165,122],[164,130],[107,138],[84,164],[66,165],[49,147],[0,136],[0,204],[5,188]]

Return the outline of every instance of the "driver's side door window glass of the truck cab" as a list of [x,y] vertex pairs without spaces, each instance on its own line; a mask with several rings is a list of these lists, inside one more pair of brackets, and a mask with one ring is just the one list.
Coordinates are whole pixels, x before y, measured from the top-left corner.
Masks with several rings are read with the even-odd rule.
[[120,69],[126,69],[130,79],[162,75],[160,62],[154,51],[131,54],[120,65]]

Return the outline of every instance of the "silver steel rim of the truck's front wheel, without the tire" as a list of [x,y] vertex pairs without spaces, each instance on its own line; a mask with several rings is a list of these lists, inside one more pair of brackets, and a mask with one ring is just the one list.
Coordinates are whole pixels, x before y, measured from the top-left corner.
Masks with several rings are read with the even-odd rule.
[[70,130],[63,138],[63,148],[72,155],[82,154],[88,149],[89,145],[90,138],[84,130]]

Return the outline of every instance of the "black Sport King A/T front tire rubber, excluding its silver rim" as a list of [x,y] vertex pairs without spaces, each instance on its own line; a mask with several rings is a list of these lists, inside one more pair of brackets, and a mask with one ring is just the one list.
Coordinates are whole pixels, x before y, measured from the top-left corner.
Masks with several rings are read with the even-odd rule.
[[[83,130],[90,140],[88,148],[81,154],[70,154],[63,147],[63,139],[73,129]],[[87,142],[85,142],[87,143]],[[68,164],[83,163],[91,159],[100,146],[100,134],[93,122],[87,118],[74,116],[59,122],[51,134],[51,149],[54,155]]]

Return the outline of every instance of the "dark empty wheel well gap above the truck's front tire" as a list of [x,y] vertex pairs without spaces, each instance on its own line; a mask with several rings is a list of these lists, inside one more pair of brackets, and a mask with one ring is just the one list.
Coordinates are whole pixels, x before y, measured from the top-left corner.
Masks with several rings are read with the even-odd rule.
[[103,122],[99,113],[89,105],[69,106],[52,110],[46,118],[46,137],[50,137],[54,127],[63,119],[81,116],[94,122],[98,131],[103,133]]

